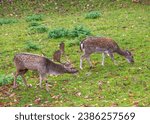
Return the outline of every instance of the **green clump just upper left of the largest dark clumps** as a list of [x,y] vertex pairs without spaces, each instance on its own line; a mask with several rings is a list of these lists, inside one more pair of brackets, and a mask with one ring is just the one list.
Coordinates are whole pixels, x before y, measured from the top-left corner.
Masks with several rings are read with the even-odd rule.
[[45,25],[38,25],[32,26],[29,30],[35,33],[45,33],[48,31],[48,28]]

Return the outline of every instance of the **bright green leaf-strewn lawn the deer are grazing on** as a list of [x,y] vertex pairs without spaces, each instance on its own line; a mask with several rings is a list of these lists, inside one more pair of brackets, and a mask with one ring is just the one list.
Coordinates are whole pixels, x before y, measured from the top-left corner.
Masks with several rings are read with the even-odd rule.
[[[73,4],[83,7],[86,2],[82,2]],[[77,25],[83,25],[94,36],[111,37],[121,48],[128,49],[134,54],[135,63],[130,65],[123,57],[115,55],[118,65],[114,65],[107,57],[103,67],[100,65],[101,55],[93,54],[91,60],[94,68],[90,70],[88,63],[84,61],[81,71],[79,60],[83,53],[80,52],[78,44],[85,36],[60,37],[58,34],[54,38],[52,35],[51,38],[48,38],[49,32],[29,34],[29,23],[32,21],[26,21],[23,14],[21,17],[16,17],[19,23],[0,26],[0,75],[10,75],[15,72],[13,57],[16,53],[32,52],[39,55],[44,53],[48,58],[52,58],[53,52],[58,49],[58,44],[62,41],[66,44],[67,57],[79,70],[79,73],[77,75],[48,76],[49,92],[45,90],[44,82],[43,89],[37,86],[39,77],[36,72],[29,71],[25,75],[28,84],[32,85],[30,88],[26,88],[21,81],[19,87],[13,89],[13,79],[8,80],[5,84],[1,78],[3,81],[1,83],[3,85],[0,86],[1,105],[150,106],[150,7],[128,2],[120,4],[120,1],[115,4],[110,3],[110,7],[104,7],[108,1],[99,5],[94,4],[97,3],[95,1],[91,2],[94,9],[103,13],[102,17],[94,20],[85,19],[85,14],[92,10],[92,6],[81,9],[71,8],[65,4],[66,8],[67,5],[69,6],[72,14],[71,11],[65,11],[64,8],[60,8],[60,13],[52,8],[51,13],[49,11],[43,13],[42,23],[47,25],[50,31],[59,28],[62,30],[61,27],[70,31]],[[45,9],[48,10],[48,8],[45,6]],[[39,49],[34,49],[35,47],[30,47],[30,45],[30,50],[26,49],[27,41]],[[65,57],[62,59],[66,61]],[[101,88],[99,88],[99,83],[101,83]],[[40,101],[36,102],[38,98]]]

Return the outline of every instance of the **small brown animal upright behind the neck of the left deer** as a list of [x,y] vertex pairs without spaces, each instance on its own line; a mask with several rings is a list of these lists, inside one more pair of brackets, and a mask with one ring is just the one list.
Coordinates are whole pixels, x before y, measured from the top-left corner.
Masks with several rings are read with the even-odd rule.
[[61,42],[59,44],[59,50],[55,51],[53,54],[53,60],[55,62],[61,63],[60,59],[61,59],[61,56],[64,54],[64,48],[65,48],[65,44]]

